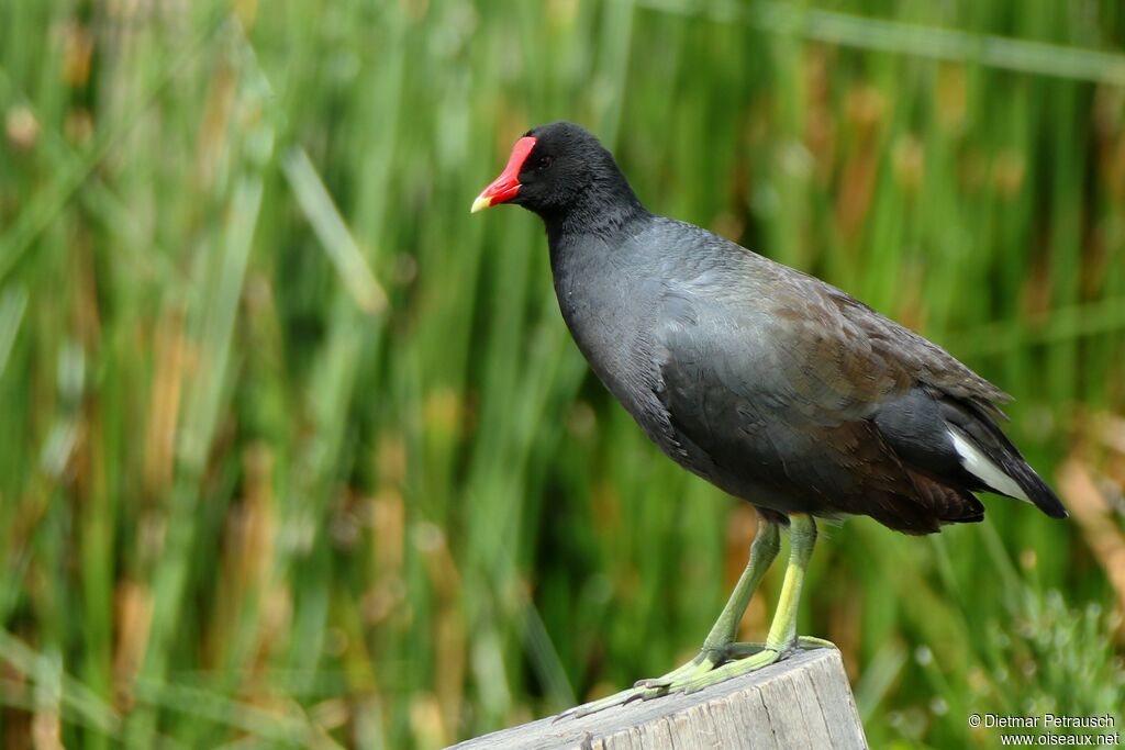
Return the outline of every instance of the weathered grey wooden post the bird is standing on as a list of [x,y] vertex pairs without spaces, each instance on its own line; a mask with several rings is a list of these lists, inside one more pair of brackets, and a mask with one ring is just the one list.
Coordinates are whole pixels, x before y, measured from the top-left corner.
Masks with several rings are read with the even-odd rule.
[[549,716],[458,750],[864,750],[860,715],[835,649],[784,661],[691,695],[637,701],[583,719]]

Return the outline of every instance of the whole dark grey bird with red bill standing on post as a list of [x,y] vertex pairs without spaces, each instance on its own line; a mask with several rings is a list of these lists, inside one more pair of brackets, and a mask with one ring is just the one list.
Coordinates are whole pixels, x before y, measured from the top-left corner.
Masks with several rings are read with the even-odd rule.
[[[929,534],[982,521],[981,491],[1066,517],[998,425],[1007,394],[840,289],[650,213],[582,126],[519,138],[471,213],[504,204],[542,219],[562,319],[605,388],[672,460],[758,515],[699,654],[575,715],[834,648],[795,627],[818,519],[870,516]],[[789,561],[766,640],[740,643],[784,527]]]

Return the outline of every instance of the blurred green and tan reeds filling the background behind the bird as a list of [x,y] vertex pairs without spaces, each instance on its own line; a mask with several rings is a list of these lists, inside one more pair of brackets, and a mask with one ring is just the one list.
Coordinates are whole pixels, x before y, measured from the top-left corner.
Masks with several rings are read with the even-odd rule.
[[538,219],[468,213],[557,118],[1016,396],[1070,521],[818,546],[872,747],[1119,728],[1123,44],[1116,0],[7,0],[2,744],[434,748],[694,653],[753,510],[590,373]]

